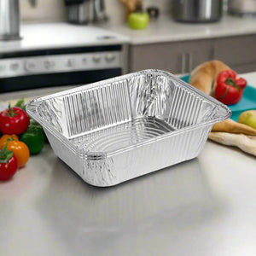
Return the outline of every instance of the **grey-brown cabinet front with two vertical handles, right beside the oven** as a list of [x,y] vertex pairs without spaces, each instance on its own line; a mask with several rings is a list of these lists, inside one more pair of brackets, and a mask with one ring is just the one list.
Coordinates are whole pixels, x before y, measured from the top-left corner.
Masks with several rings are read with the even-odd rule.
[[213,57],[212,40],[131,46],[130,72],[153,68],[171,73],[189,73],[192,68]]

